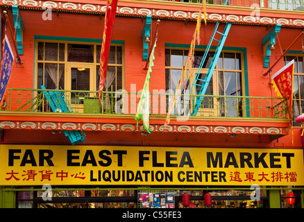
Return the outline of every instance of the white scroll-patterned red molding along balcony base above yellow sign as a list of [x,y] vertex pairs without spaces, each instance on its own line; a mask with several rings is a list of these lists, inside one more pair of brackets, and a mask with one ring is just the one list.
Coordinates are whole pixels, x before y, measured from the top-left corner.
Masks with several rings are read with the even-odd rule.
[[[143,125],[136,123],[71,123],[71,122],[42,122],[42,121],[1,121],[1,129],[25,129],[25,130],[87,130],[87,131],[122,131],[143,132]],[[234,134],[258,134],[258,135],[287,135],[289,128],[282,127],[258,127],[258,126],[196,126],[196,125],[158,125],[149,126],[151,132],[160,133],[234,133]]]

